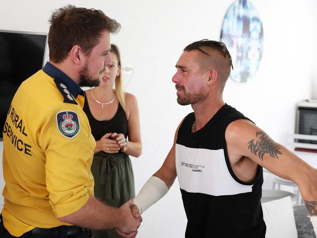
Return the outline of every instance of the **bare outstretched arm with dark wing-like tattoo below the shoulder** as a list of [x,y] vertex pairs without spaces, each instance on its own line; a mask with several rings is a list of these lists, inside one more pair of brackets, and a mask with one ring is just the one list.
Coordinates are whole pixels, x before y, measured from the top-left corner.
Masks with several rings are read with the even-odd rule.
[[297,184],[317,233],[317,169],[271,139],[248,120],[237,120],[226,130],[227,148],[248,157],[271,173]]

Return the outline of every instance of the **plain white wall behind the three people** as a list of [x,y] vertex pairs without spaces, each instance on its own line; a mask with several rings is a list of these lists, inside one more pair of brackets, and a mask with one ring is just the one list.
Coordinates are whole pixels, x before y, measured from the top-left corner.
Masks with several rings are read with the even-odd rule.
[[[136,191],[158,170],[180,120],[191,111],[179,106],[171,81],[182,49],[195,40],[219,40],[233,0],[0,0],[0,29],[48,32],[51,12],[65,2],[103,10],[122,24],[112,41],[123,64],[135,69],[127,91],[139,101],[143,153],[133,159]],[[247,83],[228,80],[224,100],[257,123],[277,142],[295,125],[298,101],[317,97],[316,0],[253,0],[264,29],[264,53]],[[184,237],[186,216],[178,181],[143,215],[139,237]]]

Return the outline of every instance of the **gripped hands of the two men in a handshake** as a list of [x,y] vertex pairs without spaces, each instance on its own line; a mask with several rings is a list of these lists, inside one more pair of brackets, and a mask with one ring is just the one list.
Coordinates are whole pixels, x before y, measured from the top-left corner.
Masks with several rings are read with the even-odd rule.
[[122,225],[116,228],[117,233],[123,238],[135,238],[142,222],[139,208],[133,204],[133,200],[129,200],[119,210],[122,213],[122,221],[120,222]]

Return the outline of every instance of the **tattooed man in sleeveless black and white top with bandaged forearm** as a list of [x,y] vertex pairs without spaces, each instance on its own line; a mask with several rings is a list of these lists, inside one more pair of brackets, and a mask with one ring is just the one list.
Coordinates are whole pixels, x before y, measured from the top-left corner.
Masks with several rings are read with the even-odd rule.
[[317,170],[224,103],[231,67],[222,42],[200,40],[185,47],[172,81],[178,103],[191,104],[194,112],[180,122],[172,149],[132,209],[144,212],[178,177],[186,238],[264,238],[264,167],[298,185],[316,229]]

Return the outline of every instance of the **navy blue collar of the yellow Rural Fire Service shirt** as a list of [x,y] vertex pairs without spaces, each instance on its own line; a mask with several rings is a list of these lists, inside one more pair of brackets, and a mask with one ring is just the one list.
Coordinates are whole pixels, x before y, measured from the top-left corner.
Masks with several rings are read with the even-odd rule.
[[78,95],[85,96],[84,91],[82,91],[82,89],[73,79],[69,78],[66,74],[64,74],[50,62],[46,62],[43,67],[43,71],[51,76],[53,79],[59,79],[60,81],[62,81],[75,99],[77,99]]

